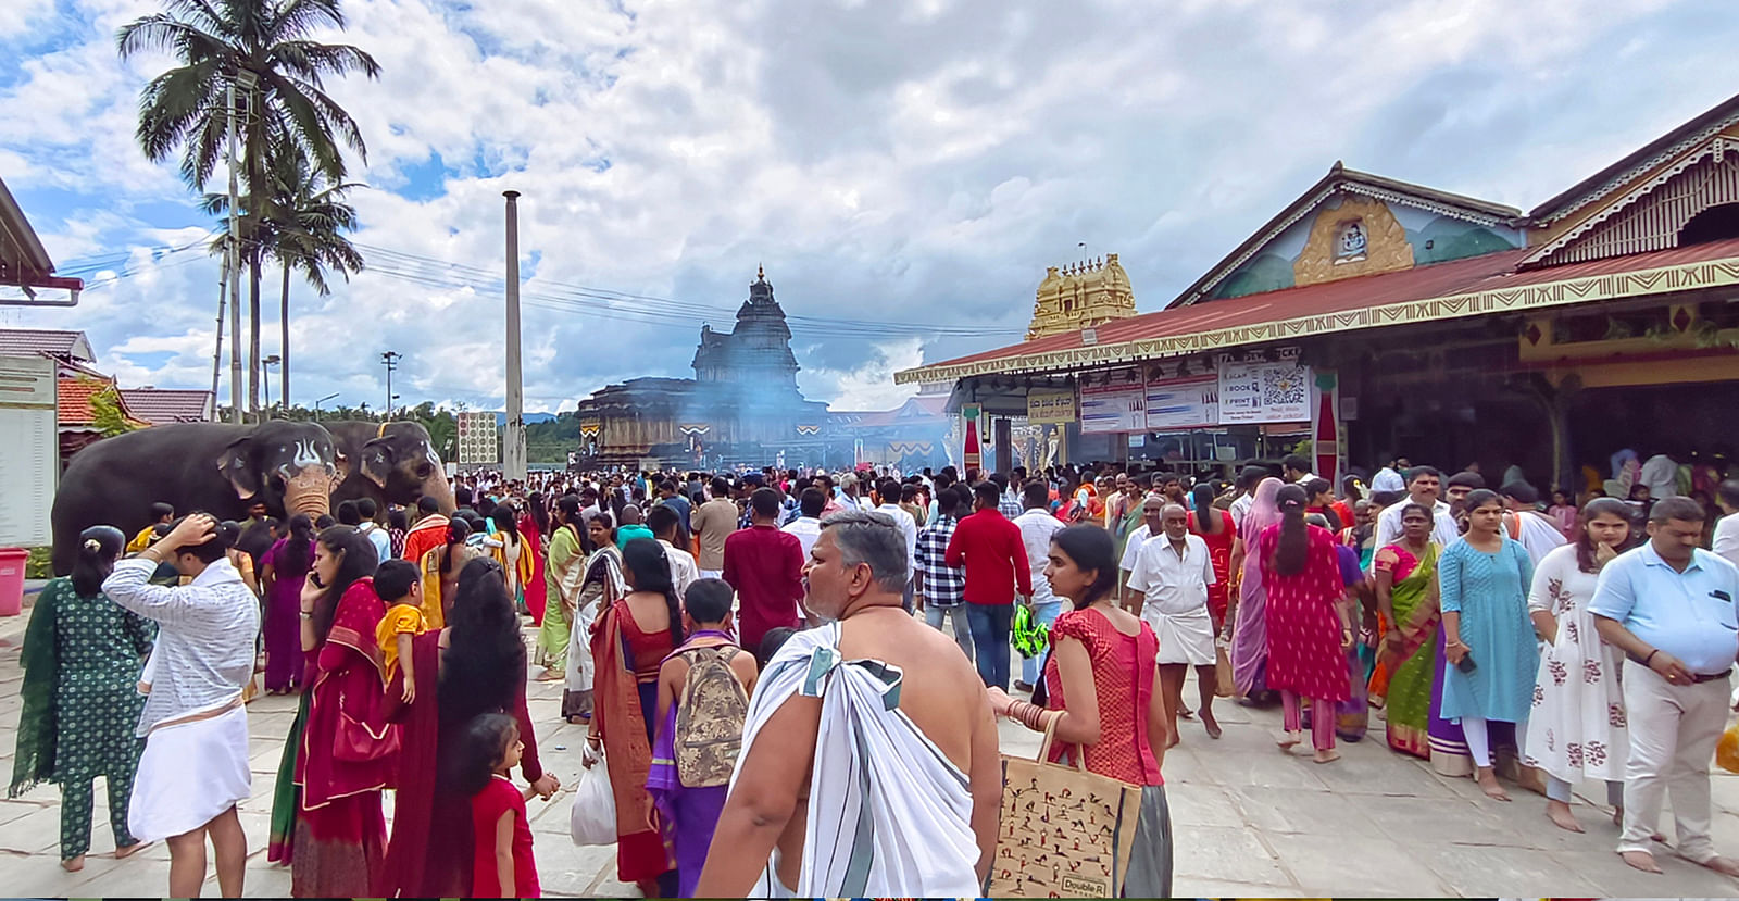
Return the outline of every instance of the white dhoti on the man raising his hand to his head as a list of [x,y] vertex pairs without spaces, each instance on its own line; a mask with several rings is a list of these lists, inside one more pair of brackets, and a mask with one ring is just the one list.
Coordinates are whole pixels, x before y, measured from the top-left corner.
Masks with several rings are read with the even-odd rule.
[[127,830],[141,842],[186,835],[252,795],[247,708],[153,729],[132,781]]

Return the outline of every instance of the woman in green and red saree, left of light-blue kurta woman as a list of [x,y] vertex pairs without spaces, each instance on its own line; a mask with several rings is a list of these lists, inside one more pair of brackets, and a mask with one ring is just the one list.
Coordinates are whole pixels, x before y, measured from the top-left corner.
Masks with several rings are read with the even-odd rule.
[[1370,701],[1388,706],[1389,748],[1426,760],[1431,758],[1431,680],[1442,621],[1438,551],[1431,543],[1431,510],[1407,504],[1402,539],[1379,548],[1372,558],[1383,644],[1370,677]]

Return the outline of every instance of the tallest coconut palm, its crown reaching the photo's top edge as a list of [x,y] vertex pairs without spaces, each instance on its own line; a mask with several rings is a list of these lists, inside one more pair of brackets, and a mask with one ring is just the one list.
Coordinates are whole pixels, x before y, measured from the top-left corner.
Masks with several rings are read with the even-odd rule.
[[[237,237],[249,266],[250,364],[249,398],[259,410],[259,275],[268,252],[250,231],[270,197],[270,153],[294,146],[325,179],[344,179],[339,144],[367,160],[356,122],[325,94],[323,78],[381,73],[374,57],[348,43],[320,43],[308,35],[344,28],[339,0],[167,0],[163,12],[143,16],[117,35],[122,57],[143,50],[172,54],[181,64],[151,78],[139,94],[136,137],[151,162],[181,148],[181,177],[203,191],[228,137],[224,92],[231,82],[247,94],[240,129],[242,177],[249,191],[247,228]],[[247,73],[249,77],[243,77]],[[252,87],[249,87],[252,85]]]

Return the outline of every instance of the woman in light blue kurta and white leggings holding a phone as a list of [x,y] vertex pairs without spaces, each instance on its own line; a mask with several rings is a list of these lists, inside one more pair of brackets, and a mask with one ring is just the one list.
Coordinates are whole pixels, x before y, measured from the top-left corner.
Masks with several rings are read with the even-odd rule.
[[1518,743],[1527,734],[1539,666],[1527,612],[1534,562],[1520,541],[1504,534],[1504,504],[1496,491],[1469,492],[1464,510],[1468,534],[1438,564],[1443,654],[1450,663],[1443,671],[1443,718],[1461,720],[1485,795],[1509,800],[1492,771],[1487,724],[1515,724]]

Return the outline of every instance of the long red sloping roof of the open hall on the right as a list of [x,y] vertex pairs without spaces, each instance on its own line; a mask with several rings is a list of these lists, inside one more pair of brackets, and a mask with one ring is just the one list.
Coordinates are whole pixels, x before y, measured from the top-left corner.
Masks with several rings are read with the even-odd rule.
[[[1499,250],[1496,254],[1416,266],[1412,270],[1346,278],[1341,282],[1323,282],[1315,285],[1289,287],[1243,297],[1221,301],[1198,301],[1188,306],[1160,310],[1139,317],[1120,318],[1097,327],[1094,346],[1122,344],[1129,341],[1149,341],[1160,337],[1186,336],[1191,332],[1235,329],[1242,325],[1259,325],[1266,322],[1292,320],[1303,317],[1320,317],[1327,313],[1344,313],[1372,306],[1402,304],[1409,301],[1426,301],[1433,297],[1452,297],[1482,290],[1499,290],[1509,287],[1527,287],[1549,282],[1569,282],[1576,278],[1617,275],[1687,263],[1708,263],[1715,259],[1739,257],[1739,238],[1697,244],[1690,247],[1673,247],[1647,254],[1629,254],[1588,263],[1570,263],[1541,270],[1516,271],[1516,264],[1529,254],[1527,249]],[[1033,357],[1050,351],[1068,351],[1085,348],[1082,332],[1064,332],[1036,341],[1023,341],[1005,348],[988,350],[967,357],[956,357],[939,364],[929,364],[906,372],[923,372],[953,365],[979,364],[1003,357]]]

